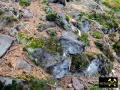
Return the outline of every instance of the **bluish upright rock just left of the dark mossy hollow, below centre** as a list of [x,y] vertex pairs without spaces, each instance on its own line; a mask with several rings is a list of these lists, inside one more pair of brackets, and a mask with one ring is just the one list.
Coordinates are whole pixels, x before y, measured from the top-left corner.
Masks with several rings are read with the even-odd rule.
[[61,63],[53,66],[53,76],[55,78],[62,78],[65,74],[67,74],[70,70],[71,59],[69,57],[65,58]]

